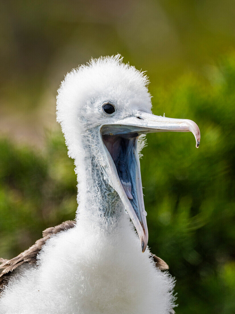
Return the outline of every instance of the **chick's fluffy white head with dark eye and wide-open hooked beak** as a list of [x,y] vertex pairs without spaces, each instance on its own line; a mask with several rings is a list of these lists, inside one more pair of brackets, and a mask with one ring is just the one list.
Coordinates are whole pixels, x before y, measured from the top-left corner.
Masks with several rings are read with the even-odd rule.
[[153,132],[192,132],[196,147],[200,143],[195,122],[152,114],[148,83],[146,75],[124,64],[120,55],[101,57],[68,73],[57,96],[57,121],[68,154],[75,163],[81,161],[81,137],[89,139],[90,146],[83,151],[92,151],[104,179],[118,193],[138,232],[142,252],[148,243],[148,228],[140,139]]

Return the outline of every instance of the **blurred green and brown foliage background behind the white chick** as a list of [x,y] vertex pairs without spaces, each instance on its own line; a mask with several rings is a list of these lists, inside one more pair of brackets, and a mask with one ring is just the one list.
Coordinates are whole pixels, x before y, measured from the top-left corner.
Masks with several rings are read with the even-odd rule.
[[0,5],[0,256],[74,218],[56,90],[71,68],[119,52],[147,71],[154,114],[201,129],[199,149],[191,133],[149,134],[141,160],[149,246],[177,280],[176,313],[234,313],[235,2]]

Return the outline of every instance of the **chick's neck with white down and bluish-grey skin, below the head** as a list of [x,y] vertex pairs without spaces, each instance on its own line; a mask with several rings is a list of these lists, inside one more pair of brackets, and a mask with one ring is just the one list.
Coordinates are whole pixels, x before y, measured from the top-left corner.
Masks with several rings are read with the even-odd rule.
[[[76,158],[78,177],[77,219],[92,219],[98,223],[118,220],[124,212],[118,193],[105,179],[106,173],[101,165],[101,144],[98,130],[87,132],[81,137],[82,152]],[[96,145],[94,145],[96,143]]]

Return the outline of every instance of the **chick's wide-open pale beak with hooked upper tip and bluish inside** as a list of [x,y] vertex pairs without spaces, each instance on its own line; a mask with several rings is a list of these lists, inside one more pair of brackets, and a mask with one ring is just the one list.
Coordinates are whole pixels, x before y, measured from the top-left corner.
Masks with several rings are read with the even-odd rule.
[[196,147],[200,143],[200,130],[195,122],[173,119],[139,112],[100,127],[100,137],[107,153],[105,170],[132,219],[141,242],[142,252],[148,243],[147,213],[141,183],[138,156],[138,136],[153,132],[192,132]]

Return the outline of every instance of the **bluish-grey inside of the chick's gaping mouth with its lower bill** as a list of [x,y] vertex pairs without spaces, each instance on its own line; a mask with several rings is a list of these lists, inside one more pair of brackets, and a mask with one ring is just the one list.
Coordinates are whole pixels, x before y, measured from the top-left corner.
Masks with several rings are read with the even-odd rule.
[[[120,132],[122,130],[123,128],[120,127]],[[137,149],[138,133],[102,134],[102,139],[116,168],[113,172],[118,178],[119,196],[121,194],[126,212],[139,230],[142,251],[144,251],[148,242],[148,228]],[[139,224],[141,228],[138,228]]]

